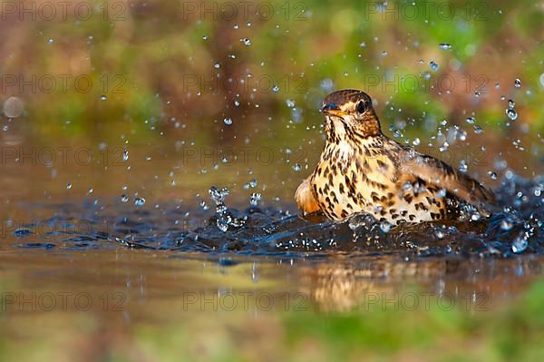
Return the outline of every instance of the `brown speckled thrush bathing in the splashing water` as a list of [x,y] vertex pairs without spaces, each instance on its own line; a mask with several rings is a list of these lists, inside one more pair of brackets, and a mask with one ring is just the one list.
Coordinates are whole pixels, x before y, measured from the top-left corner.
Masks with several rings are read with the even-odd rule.
[[461,205],[489,216],[497,205],[479,181],[384,135],[368,94],[335,91],[321,112],[325,149],[295,194],[303,215],[345,220],[367,213],[399,225],[459,218]]

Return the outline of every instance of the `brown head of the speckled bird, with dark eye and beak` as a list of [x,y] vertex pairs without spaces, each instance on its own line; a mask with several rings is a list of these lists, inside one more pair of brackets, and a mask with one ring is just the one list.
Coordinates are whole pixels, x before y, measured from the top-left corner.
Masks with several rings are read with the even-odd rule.
[[321,112],[325,115],[327,139],[370,137],[380,134],[380,121],[374,113],[372,99],[362,91],[345,89],[325,97]]

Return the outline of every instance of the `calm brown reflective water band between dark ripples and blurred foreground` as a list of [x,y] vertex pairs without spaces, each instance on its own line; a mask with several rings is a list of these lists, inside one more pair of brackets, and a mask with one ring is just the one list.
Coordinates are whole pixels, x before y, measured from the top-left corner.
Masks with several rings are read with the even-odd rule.
[[[198,254],[192,258],[199,258]],[[458,307],[479,311],[512,298],[542,273],[542,261],[534,257],[405,261],[340,254],[325,260],[257,260],[236,258],[226,263],[127,249],[76,254],[52,250],[50,255],[14,250],[3,256],[2,301],[5,310],[16,315],[47,311],[51,303],[45,303],[46,298],[57,301],[69,293],[76,299],[82,294],[81,300],[69,300],[65,306],[59,302],[51,309],[88,307],[101,313],[123,312],[124,318],[136,320],[160,318],[156,311],[166,306],[180,313],[367,311],[391,304],[408,308],[408,298],[419,303],[447,298]],[[15,268],[21,264],[24,269]],[[87,306],[87,299],[92,305]]]

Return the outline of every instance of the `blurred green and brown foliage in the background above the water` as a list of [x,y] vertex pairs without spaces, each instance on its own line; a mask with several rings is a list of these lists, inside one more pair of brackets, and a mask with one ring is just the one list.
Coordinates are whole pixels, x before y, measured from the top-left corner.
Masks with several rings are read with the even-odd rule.
[[[38,8],[42,3],[35,2]],[[232,2],[207,2],[211,13],[200,12],[202,2],[110,2],[107,12],[99,3],[86,20],[73,11],[64,20],[60,10],[53,20],[39,13],[24,21],[19,13],[2,15],[0,101],[22,98],[38,134],[84,136],[100,125],[102,137],[118,137],[112,130],[122,130],[144,138],[150,130],[179,128],[193,137],[216,138],[218,124],[231,117],[234,130],[267,127],[296,137],[293,127],[286,127],[292,118],[287,99],[303,110],[305,126],[316,125],[322,122],[315,111],[325,94],[345,87],[370,93],[386,124],[404,120],[420,128],[429,117],[461,123],[475,113],[485,114],[479,119],[484,128],[500,128],[513,98],[518,122],[544,126],[539,102],[544,15],[531,1],[416,7],[400,1],[388,2],[386,11],[355,0],[273,1],[267,3],[273,15],[256,15],[256,2],[247,17],[239,7],[234,18],[220,13],[223,5],[238,4]],[[442,43],[452,49],[440,49]],[[439,69],[432,71],[430,61]],[[47,74],[70,74],[68,89],[60,80],[51,93],[42,92],[38,81],[34,91],[5,82],[6,75],[29,81]],[[89,92],[74,87],[82,75],[92,80]],[[442,83],[442,92],[435,84],[444,77],[454,80],[449,93],[443,91],[451,83]],[[521,88],[513,87],[516,78]],[[403,79],[416,86],[406,89]],[[276,115],[281,121],[267,122]]]

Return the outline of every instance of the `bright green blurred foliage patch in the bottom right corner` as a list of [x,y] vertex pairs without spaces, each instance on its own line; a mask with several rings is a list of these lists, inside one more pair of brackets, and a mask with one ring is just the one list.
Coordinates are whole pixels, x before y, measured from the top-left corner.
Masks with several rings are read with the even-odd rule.
[[510,306],[481,312],[468,313],[463,310],[466,303],[451,310],[437,308],[432,300],[430,309],[420,305],[416,311],[376,303],[319,318],[292,313],[285,339],[291,354],[301,356],[307,346],[314,346],[325,360],[539,361],[544,356],[539,344],[544,337],[539,313],[543,301],[544,284],[537,282]]

